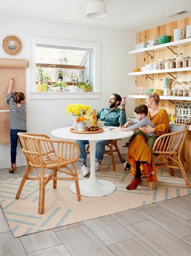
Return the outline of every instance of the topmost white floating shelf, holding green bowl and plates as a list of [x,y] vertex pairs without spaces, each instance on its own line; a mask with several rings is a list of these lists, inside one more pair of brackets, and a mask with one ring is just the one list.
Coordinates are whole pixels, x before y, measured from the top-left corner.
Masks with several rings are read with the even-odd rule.
[[189,45],[189,44],[191,44],[191,38],[186,38],[186,39],[182,39],[182,40],[178,40],[178,41],[172,41],[170,43],[166,43],[166,44],[162,44],[162,45],[155,45],[155,46],[141,48],[138,50],[129,51],[129,54],[141,55],[145,51],[158,51],[158,50],[166,49],[167,46],[168,47],[170,47],[170,46],[176,47],[176,46]]

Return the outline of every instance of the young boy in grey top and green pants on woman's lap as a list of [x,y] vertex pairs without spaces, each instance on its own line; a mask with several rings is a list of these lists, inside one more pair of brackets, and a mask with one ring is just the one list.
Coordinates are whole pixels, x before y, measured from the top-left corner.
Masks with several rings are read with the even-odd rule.
[[[136,114],[137,121],[127,122],[125,124],[125,128],[120,128],[122,131],[134,130],[141,126],[146,126],[146,125],[150,125],[151,127],[154,127],[153,122],[151,122],[150,119],[147,117],[148,107],[146,105],[144,104],[138,105],[137,107],[135,107],[134,112]],[[128,125],[131,125],[131,126],[127,128]],[[129,142],[126,143],[126,146],[123,146],[123,147],[126,147],[126,149],[128,149],[129,146],[131,145],[131,142],[134,140],[135,136],[138,134],[141,134],[144,138],[146,138],[146,143],[149,146],[149,149],[151,151],[151,156],[153,157],[153,145],[155,140],[157,139],[157,136],[153,132],[144,134],[142,131],[136,130],[134,131],[134,134],[129,139]]]

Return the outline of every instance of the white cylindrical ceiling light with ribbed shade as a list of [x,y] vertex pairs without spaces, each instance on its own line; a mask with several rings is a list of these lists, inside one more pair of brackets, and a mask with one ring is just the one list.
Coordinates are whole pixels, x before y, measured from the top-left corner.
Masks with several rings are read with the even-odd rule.
[[106,3],[104,3],[104,0],[93,0],[87,3],[86,16],[91,19],[106,17]]

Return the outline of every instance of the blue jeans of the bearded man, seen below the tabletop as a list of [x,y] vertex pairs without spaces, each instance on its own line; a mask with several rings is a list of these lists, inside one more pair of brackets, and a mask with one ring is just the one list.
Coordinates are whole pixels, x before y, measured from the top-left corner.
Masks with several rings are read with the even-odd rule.
[[[95,161],[101,162],[104,157],[105,145],[112,140],[97,140],[95,148]],[[80,158],[79,161],[86,161],[86,145],[89,144],[88,140],[76,140],[76,143],[80,147]]]

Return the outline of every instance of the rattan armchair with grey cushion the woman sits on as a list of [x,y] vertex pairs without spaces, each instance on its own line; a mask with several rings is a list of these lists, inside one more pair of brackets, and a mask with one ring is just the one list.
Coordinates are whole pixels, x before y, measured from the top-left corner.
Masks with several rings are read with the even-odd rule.
[[[167,133],[158,137],[158,139],[155,141],[153,145],[153,155],[156,157],[153,162],[155,164],[156,169],[162,166],[168,167],[170,169],[171,176],[175,176],[174,168],[180,169],[183,175],[186,187],[190,188],[190,183],[181,161],[181,152],[183,149],[183,145],[184,145],[188,130],[189,130],[189,126],[185,125],[184,130]],[[182,136],[180,137],[180,135]],[[174,158],[175,156],[177,156],[177,160]],[[156,161],[160,157],[164,157],[167,161],[162,164],[156,163]],[[173,162],[175,162],[177,165],[173,165]],[[153,183],[150,182],[150,187],[152,186],[152,184]]]

